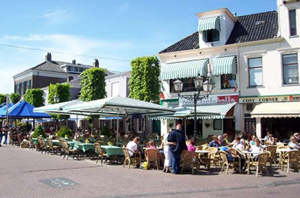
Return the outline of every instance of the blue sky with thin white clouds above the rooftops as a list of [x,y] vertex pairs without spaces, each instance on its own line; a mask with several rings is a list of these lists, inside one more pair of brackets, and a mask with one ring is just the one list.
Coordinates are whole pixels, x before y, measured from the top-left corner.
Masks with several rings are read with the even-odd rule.
[[[92,57],[52,53],[52,60],[129,71],[130,60],[157,55],[197,31],[195,13],[228,8],[237,16],[276,10],[276,0],[3,1],[0,44]],[[46,52],[0,45],[0,93],[14,91],[13,78],[45,59]]]

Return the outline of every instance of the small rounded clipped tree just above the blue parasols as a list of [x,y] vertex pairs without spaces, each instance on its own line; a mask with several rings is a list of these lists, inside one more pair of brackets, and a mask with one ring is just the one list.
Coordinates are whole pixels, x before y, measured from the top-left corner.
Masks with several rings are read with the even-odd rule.
[[35,107],[41,107],[44,105],[44,91],[42,89],[27,89],[24,94],[24,100]]

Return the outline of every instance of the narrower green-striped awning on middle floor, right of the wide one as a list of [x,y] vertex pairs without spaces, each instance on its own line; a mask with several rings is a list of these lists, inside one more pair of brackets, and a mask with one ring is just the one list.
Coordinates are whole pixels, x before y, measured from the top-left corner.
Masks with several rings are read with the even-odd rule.
[[223,56],[218,57],[212,68],[214,76],[221,74],[234,74],[237,73],[236,56]]

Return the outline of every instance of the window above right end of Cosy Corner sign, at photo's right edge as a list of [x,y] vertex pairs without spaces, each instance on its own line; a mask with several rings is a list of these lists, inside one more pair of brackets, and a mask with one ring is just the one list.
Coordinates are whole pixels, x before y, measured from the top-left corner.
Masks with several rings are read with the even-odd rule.
[[297,54],[285,54],[283,62],[283,84],[298,83],[298,57]]

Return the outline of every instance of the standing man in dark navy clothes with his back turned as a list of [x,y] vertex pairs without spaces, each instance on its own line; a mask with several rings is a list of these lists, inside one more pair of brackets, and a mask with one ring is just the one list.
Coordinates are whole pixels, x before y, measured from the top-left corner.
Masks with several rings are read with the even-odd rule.
[[182,130],[182,125],[177,124],[176,129],[172,130],[168,136],[168,142],[172,143],[170,146],[172,157],[172,173],[179,174],[180,172],[180,158],[183,150],[187,150],[185,132]]

